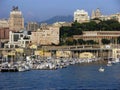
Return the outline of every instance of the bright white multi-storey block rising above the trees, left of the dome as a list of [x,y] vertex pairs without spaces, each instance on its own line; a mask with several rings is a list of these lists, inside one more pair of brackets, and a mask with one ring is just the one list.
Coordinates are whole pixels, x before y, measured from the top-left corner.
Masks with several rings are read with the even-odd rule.
[[74,21],[84,23],[89,22],[89,20],[88,12],[79,9],[74,12]]

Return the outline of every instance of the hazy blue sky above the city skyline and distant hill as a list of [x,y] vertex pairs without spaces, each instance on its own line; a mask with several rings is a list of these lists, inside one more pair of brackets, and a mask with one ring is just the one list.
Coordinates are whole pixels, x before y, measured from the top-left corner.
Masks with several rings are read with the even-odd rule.
[[103,15],[120,13],[120,0],[0,0],[0,19],[9,18],[13,6],[19,7],[25,21],[73,15],[77,9],[84,9],[89,15],[97,8]]

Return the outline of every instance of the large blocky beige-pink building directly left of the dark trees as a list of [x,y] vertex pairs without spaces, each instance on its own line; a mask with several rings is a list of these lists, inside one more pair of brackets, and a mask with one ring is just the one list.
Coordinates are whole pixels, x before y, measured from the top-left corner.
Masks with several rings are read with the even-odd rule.
[[59,28],[52,26],[39,28],[36,32],[32,32],[31,41],[36,45],[58,45]]

